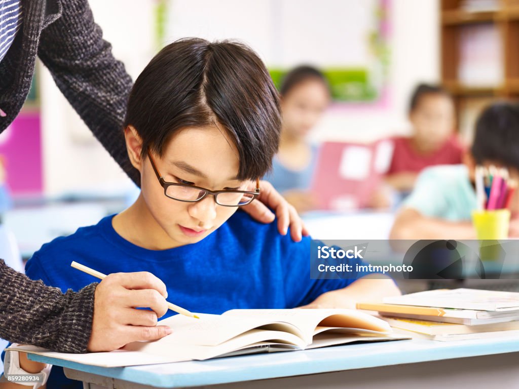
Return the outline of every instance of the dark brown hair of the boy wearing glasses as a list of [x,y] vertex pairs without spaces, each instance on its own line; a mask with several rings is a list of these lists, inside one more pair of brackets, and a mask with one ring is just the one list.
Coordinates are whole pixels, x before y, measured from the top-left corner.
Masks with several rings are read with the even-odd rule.
[[163,48],[135,81],[124,122],[162,156],[171,136],[188,127],[218,124],[239,152],[238,179],[262,177],[279,144],[278,92],[249,47],[186,38]]

